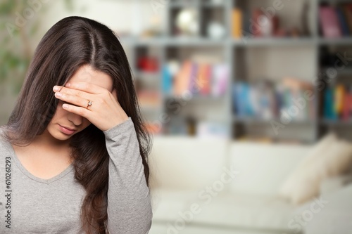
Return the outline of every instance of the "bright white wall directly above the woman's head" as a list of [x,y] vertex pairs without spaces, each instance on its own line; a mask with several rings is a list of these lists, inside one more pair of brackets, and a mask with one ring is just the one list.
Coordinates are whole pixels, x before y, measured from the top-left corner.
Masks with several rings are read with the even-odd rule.
[[[155,8],[154,0],[73,0],[73,11],[65,7],[65,0],[49,0],[43,15],[42,35],[59,20],[77,15],[99,21],[115,32],[140,34],[153,18],[163,18],[166,6]],[[161,20],[164,22],[165,20]]]

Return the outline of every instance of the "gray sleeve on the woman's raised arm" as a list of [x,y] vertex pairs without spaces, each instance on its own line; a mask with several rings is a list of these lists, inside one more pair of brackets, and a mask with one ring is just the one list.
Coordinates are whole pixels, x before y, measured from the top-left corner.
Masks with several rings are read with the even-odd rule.
[[151,227],[151,199],[132,120],[104,131],[109,161],[108,230],[111,234],[146,234]]

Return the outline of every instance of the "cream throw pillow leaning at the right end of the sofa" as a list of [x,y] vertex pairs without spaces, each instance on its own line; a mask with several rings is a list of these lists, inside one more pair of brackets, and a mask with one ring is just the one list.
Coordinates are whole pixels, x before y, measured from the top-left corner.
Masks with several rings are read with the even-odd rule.
[[319,195],[320,184],[325,178],[345,173],[351,164],[352,144],[329,134],[299,164],[279,194],[293,204],[302,204]]

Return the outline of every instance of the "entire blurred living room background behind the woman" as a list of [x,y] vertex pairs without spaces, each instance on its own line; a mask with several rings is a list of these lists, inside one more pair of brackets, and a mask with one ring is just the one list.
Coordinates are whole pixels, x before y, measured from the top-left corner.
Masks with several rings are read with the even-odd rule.
[[80,15],[118,35],[153,134],[150,233],[352,233],[352,1],[0,1],[0,125]]

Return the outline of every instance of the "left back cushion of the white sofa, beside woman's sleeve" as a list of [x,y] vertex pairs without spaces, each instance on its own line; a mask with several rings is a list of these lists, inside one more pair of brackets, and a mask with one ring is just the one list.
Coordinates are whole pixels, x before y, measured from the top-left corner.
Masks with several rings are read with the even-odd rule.
[[149,157],[151,184],[195,189],[213,183],[226,164],[228,141],[194,137],[155,137]]

